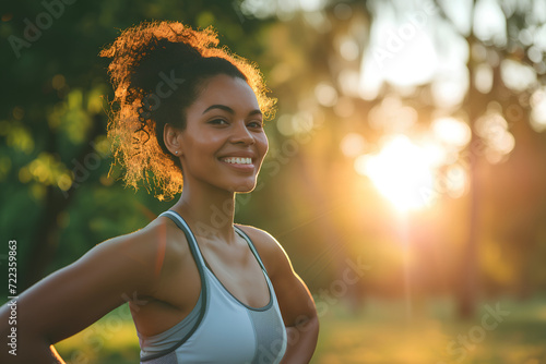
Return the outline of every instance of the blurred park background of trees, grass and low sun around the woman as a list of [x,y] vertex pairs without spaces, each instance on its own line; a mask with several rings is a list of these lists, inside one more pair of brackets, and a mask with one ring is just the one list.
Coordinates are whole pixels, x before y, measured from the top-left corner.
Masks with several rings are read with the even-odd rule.
[[[19,292],[175,203],[108,175],[99,50],[143,20],[212,24],[278,98],[236,220],[311,290],[312,363],[546,363],[545,0],[45,0],[0,16],[0,265],[16,240]],[[127,305],[57,348],[139,357]]]

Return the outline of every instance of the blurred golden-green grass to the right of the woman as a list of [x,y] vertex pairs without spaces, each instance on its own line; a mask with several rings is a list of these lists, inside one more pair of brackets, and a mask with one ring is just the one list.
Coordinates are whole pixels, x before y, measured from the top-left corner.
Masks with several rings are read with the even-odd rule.
[[546,363],[546,300],[490,302],[466,321],[453,313],[450,301],[413,307],[411,316],[401,302],[371,301],[353,314],[335,307],[321,319],[313,363]]

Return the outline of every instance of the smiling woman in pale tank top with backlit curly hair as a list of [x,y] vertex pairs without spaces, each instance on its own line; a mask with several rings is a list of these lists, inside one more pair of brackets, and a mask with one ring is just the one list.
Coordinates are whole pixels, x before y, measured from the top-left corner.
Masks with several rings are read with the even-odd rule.
[[[319,324],[305,283],[274,238],[233,223],[235,194],[253,190],[268,151],[274,100],[258,69],[217,44],[210,28],[162,22],[103,50],[126,182],[152,178],[158,198],[181,195],[21,294],[17,355],[4,349],[2,363],[62,363],[54,343],[127,300],[142,363],[309,362]],[[4,338],[8,317],[4,305]]]

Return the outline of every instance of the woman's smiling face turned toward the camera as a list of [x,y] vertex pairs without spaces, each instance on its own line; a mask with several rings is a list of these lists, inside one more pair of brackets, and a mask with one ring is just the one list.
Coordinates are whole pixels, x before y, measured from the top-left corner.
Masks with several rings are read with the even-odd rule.
[[252,191],[268,137],[247,82],[224,74],[205,81],[186,110],[180,145],[185,189],[205,183],[229,192]]

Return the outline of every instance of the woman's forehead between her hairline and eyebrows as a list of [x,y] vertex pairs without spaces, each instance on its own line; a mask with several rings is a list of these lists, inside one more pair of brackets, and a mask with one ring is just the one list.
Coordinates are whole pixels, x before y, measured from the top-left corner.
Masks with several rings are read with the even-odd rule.
[[260,109],[249,84],[245,80],[225,74],[206,80],[190,109],[205,110],[211,105],[225,105],[242,112]]

